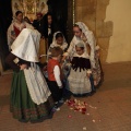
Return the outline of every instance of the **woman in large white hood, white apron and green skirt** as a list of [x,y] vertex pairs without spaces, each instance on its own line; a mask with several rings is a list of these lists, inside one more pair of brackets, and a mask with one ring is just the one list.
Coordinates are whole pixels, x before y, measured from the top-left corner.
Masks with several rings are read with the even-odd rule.
[[13,69],[10,110],[20,121],[43,121],[51,117],[51,93],[38,67],[40,34],[24,28],[14,40],[7,63]]

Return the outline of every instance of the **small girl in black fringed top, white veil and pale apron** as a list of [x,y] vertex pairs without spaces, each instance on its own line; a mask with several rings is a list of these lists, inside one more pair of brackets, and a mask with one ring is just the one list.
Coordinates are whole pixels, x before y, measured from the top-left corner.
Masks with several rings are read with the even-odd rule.
[[73,95],[91,94],[94,88],[90,56],[83,41],[75,45],[76,53],[71,60],[71,71],[68,78],[69,90]]

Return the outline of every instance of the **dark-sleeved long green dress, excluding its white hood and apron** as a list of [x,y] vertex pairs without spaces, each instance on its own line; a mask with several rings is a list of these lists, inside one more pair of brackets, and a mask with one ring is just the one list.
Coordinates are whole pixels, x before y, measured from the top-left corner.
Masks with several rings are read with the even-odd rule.
[[[10,53],[7,58],[7,63],[9,63],[14,70],[10,95],[10,111],[13,114],[13,118],[19,119],[20,121],[37,121],[51,117],[53,102],[50,92],[46,90],[48,97],[45,103],[39,105],[34,103],[32,98],[33,96],[31,96],[31,92],[28,91],[25,72],[24,70],[20,70],[17,66],[25,63],[29,67],[31,62]],[[45,84],[44,86],[47,88],[46,81],[45,79],[43,80]]]

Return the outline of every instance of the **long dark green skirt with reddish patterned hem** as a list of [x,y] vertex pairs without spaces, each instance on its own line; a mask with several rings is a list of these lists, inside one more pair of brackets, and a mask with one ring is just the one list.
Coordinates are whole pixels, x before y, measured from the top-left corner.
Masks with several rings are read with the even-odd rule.
[[24,71],[13,73],[10,110],[15,119],[37,121],[48,118],[51,115],[52,106],[51,96],[46,103],[36,105],[31,98]]

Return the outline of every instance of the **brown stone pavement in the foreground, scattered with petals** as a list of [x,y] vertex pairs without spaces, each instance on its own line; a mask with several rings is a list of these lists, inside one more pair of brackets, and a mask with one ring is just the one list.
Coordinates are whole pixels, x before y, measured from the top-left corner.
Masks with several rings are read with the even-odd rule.
[[[67,104],[52,119],[22,123],[9,111],[11,74],[0,76],[0,131],[131,131],[131,62],[104,64],[105,80],[87,103],[86,114]],[[72,97],[73,98],[73,97]]]

